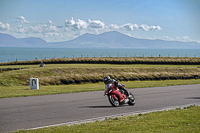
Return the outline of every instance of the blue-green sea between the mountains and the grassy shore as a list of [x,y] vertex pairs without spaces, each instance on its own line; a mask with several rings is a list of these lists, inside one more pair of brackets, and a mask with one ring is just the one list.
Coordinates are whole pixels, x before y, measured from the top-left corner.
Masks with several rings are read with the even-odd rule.
[[83,49],[0,47],[0,62],[82,57],[200,57],[200,49]]

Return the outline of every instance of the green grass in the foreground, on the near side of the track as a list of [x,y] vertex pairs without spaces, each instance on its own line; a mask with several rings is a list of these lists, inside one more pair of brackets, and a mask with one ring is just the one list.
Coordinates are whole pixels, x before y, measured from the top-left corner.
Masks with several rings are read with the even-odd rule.
[[200,131],[200,106],[188,106],[122,118],[109,118],[72,126],[56,126],[17,133],[197,133]]

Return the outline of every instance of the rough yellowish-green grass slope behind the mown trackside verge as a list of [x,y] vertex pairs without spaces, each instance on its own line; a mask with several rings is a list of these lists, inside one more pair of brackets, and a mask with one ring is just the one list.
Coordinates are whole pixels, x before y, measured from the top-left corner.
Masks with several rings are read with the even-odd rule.
[[28,86],[30,78],[39,78],[41,85],[61,85],[72,80],[80,82],[93,79],[102,80],[107,75],[115,79],[200,77],[200,68],[198,65],[144,64],[47,64],[45,68],[29,65],[28,68],[22,70],[0,72],[0,86]]

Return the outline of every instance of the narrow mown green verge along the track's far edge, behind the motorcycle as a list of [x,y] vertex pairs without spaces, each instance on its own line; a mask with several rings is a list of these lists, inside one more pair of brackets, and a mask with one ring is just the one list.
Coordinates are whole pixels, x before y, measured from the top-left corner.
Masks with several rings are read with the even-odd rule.
[[[126,88],[130,89],[130,88],[200,84],[200,79],[128,81],[128,82],[123,81],[120,83],[126,84]],[[102,94],[103,94],[104,90],[105,90],[105,85],[103,82],[99,82],[96,84],[86,83],[86,84],[79,84],[79,85],[39,86],[39,90],[31,90],[30,86],[0,86],[0,98],[75,93],[75,92],[86,92],[86,91],[102,91]]]

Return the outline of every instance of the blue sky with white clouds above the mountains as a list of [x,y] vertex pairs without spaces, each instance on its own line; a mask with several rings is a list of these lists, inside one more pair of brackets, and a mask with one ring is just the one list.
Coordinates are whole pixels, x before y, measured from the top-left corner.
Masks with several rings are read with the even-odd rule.
[[119,31],[200,43],[199,0],[0,0],[0,33],[67,41]]

